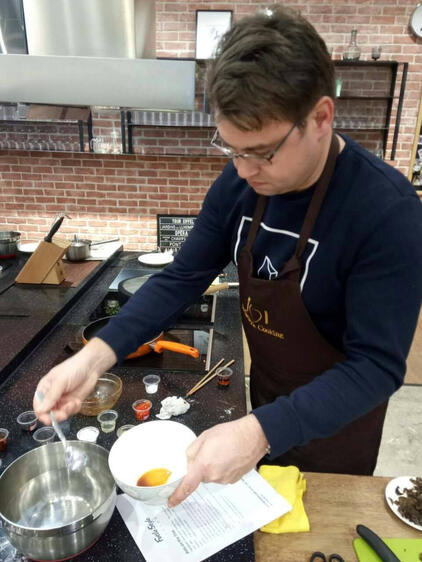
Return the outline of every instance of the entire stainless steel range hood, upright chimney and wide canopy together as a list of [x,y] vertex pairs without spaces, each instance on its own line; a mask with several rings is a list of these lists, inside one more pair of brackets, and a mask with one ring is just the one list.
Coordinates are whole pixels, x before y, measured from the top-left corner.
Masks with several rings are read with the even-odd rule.
[[195,62],[154,58],[154,0],[23,5],[29,55],[0,55],[0,102],[194,109]]

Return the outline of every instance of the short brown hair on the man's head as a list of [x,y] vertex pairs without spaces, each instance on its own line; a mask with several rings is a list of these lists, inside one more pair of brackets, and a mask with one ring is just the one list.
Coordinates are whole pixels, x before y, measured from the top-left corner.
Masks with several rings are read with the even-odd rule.
[[303,124],[322,96],[334,99],[334,65],[315,28],[277,5],[223,36],[207,90],[216,118],[241,130],[260,130],[270,120]]

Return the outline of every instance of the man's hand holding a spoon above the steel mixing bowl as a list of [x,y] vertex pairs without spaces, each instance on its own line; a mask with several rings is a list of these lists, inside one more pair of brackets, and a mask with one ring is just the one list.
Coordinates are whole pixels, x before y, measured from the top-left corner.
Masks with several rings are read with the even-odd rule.
[[38,383],[42,400],[34,396],[34,411],[38,419],[51,424],[49,412],[54,410],[57,421],[63,421],[81,409],[82,401],[92,392],[98,378],[117,361],[112,348],[99,338],[93,338],[73,357],[56,365]]

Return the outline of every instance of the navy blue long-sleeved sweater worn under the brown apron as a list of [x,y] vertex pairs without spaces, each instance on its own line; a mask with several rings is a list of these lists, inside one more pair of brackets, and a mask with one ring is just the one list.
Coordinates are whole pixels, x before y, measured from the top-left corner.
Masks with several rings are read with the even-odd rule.
[[[344,139],[301,286],[316,327],[346,359],[254,410],[271,456],[337,432],[388,399],[406,371],[422,296],[422,206],[400,172]],[[268,199],[253,247],[256,276],[271,279],[293,253],[313,190]],[[99,334],[119,361],[171,326],[231,260],[237,263],[256,199],[229,163],[174,262]]]

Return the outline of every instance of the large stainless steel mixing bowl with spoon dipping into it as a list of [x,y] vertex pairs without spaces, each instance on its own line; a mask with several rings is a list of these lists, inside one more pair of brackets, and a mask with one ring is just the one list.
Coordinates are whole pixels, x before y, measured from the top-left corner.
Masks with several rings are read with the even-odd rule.
[[70,441],[88,457],[69,471],[61,442],[47,443],[16,459],[0,477],[0,517],[10,542],[28,558],[60,560],[91,546],[116,504],[108,451]]

